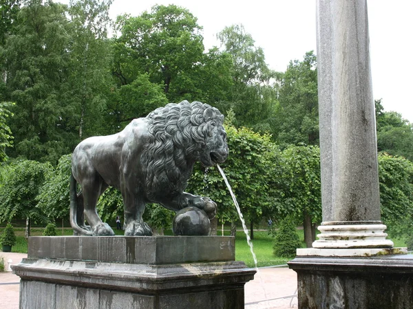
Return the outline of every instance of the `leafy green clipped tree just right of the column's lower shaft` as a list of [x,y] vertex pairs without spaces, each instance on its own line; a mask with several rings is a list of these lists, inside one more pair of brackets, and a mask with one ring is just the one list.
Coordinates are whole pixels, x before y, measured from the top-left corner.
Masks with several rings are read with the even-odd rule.
[[379,155],[381,219],[394,236],[413,229],[413,163],[402,157]]

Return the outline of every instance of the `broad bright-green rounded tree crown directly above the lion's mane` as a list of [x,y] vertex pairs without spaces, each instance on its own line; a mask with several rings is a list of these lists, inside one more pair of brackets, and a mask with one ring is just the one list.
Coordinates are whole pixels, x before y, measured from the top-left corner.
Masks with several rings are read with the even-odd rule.
[[130,84],[147,73],[174,102],[177,95],[169,91],[173,82],[202,60],[202,28],[197,19],[176,5],[155,5],[138,17],[119,16],[117,23],[122,33],[117,54],[122,57],[115,60],[114,76],[120,84]]

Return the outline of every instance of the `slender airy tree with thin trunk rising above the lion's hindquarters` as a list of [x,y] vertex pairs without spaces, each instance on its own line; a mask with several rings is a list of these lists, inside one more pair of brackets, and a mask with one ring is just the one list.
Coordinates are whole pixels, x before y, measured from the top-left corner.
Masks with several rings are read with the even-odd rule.
[[[76,122],[78,140],[107,132],[102,124],[109,89],[114,87],[111,43],[107,40],[111,3],[112,0],[71,0],[68,8],[70,65],[63,97],[67,108],[71,108],[68,114],[73,115],[67,122]],[[67,113],[63,115],[67,117]]]

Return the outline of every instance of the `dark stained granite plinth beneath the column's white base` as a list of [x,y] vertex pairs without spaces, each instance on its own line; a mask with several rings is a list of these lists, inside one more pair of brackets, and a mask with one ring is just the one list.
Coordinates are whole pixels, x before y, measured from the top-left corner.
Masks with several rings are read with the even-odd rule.
[[413,308],[413,255],[297,257],[301,309]]

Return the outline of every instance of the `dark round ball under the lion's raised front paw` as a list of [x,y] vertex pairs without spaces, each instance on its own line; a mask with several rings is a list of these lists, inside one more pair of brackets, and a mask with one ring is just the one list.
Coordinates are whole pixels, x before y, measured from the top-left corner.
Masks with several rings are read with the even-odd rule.
[[211,221],[202,209],[187,207],[173,217],[172,230],[175,236],[208,236]]

